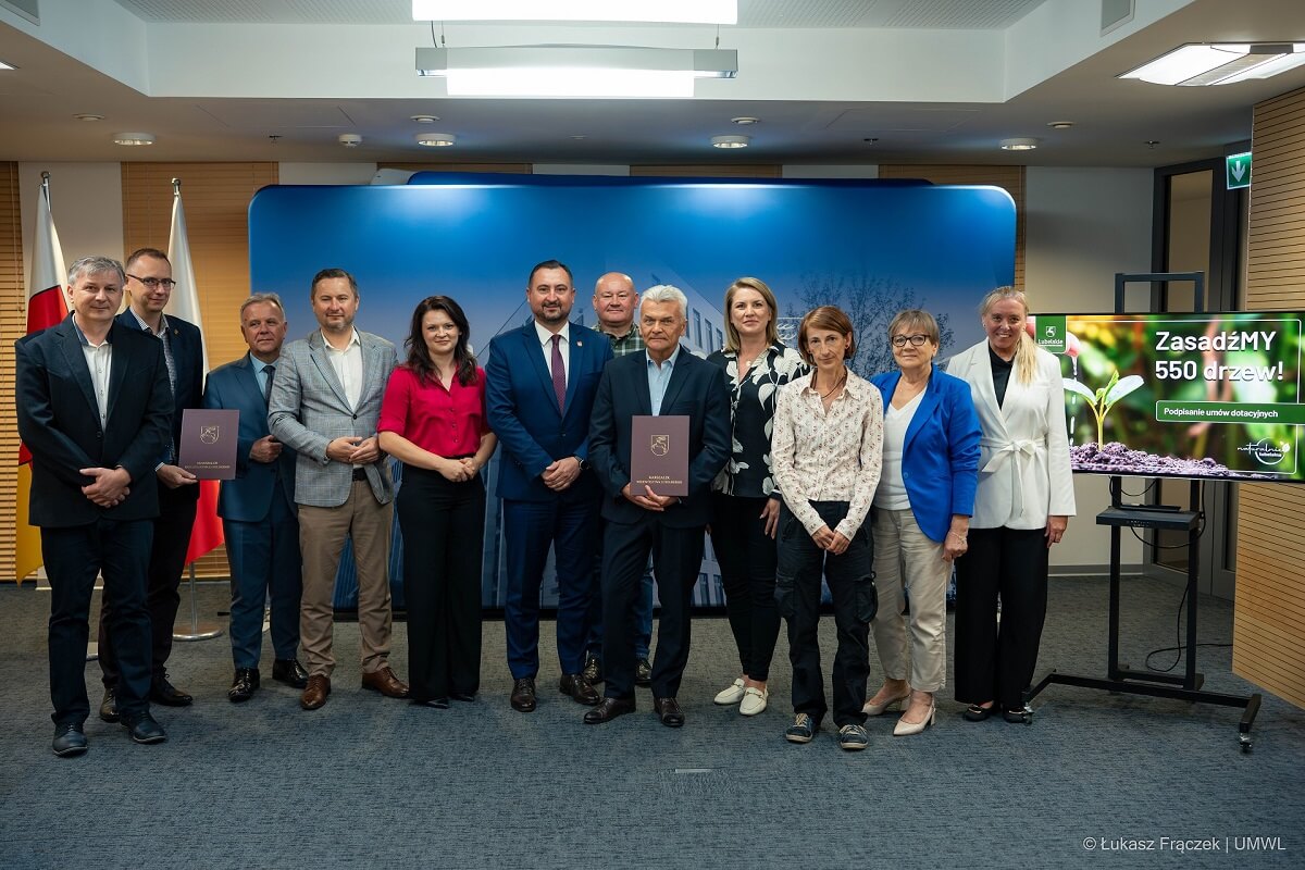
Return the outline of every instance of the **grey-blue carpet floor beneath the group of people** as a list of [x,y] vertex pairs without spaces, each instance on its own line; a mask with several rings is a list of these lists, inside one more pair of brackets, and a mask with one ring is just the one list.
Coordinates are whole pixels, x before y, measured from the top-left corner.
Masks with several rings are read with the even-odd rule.
[[[1128,582],[1126,663],[1176,644],[1180,597]],[[1104,580],[1053,580],[1039,673],[1104,674],[1105,599]],[[200,601],[209,616],[224,610],[224,587],[201,586]],[[713,706],[737,670],[723,618],[694,622],[679,730],[656,723],[647,690],[636,715],[583,725],[583,708],[553,689],[548,622],[532,715],[508,706],[500,622],[485,623],[482,695],[448,711],[360,690],[358,626],[341,622],[334,694],[317,712],[270,680],[231,704],[227,638],[179,643],[171,673],[197,700],[157,711],[168,742],[132,745],[93,713],[90,753],[57,759],[47,609],[30,584],[0,587],[7,870],[1305,866],[1305,712],[1267,694],[1250,754],[1237,746],[1238,710],[1067,686],[1037,698],[1027,727],[966,723],[945,693],[934,728],[894,738],[895,716],[872,719],[870,747],[853,754],[831,723],[810,745],[783,740],[783,638],[770,710],[745,719]],[[1228,642],[1231,626],[1227,603],[1202,601],[1202,642]],[[829,663],[830,617],[821,637]],[[406,653],[397,625],[401,674]],[[1254,690],[1231,673],[1229,650],[1202,647],[1199,661],[1207,689]],[[86,673],[94,708],[98,667]],[[881,676],[872,653],[870,691]],[[1267,845],[1238,840],[1257,836]],[[1173,845],[1202,839],[1219,850]],[[1168,848],[1128,849],[1148,840]]]

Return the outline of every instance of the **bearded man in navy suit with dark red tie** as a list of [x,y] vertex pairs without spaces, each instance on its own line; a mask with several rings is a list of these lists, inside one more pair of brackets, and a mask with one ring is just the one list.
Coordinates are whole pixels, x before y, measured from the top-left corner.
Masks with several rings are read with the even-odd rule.
[[576,303],[570,269],[548,260],[530,271],[534,320],[496,335],[485,363],[489,427],[502,445],[499,497],[508,547],[504,622],[512,707],[535,710],[539,673],[539,586],[553,548],[557,571],[559,689],[598,703],[585,677],[586,613],[592,590],[599,488],[589,471],[589,416],[611,343],[569,322]]

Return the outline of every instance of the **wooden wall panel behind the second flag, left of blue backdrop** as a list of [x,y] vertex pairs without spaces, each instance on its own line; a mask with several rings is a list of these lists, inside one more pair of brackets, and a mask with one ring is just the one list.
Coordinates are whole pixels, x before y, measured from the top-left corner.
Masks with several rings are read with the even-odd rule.
[[[172,179],[181,181],[209,364],[218,367],[248,350],[240,338],[239,310],[251,291],[249,201],[260,188],[277,183],[277,164],[123,163],[125,254],[145,247],[167,250]],[[227,577],[226,549],[218,548],[196,562],[196,574]]]

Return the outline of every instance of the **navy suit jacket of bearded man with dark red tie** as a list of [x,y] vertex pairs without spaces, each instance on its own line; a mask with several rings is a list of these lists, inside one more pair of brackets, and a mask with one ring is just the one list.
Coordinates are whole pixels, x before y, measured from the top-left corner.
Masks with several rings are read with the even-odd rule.
[[[553,501],[564,493],[544,485],[539,477],[544,468],[566,457],[589,460],[589,417],[599,377],[612,359],[612,343],[591,329],[572,323],[568,350],[566,402],[559,410],[534,321],[489,342],[485,413],[502,449],[500,498]],[[581,472],[566,494],[598,498],[594,475]]]

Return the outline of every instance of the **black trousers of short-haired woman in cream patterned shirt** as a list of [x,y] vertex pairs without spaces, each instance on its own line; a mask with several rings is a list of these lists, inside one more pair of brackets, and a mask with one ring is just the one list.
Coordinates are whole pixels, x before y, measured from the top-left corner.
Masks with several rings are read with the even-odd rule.
[[[816,501],[812,507],[834,528],[847,515],[846,501]],[[829,704],[820,668],[821,574],[834,599],[838,651],[834,653],[834,723],[865,721],[865,681],[870,676],[869,626],[874,618],[874,544],[869,523],[856,531],[842,554],[816,545],[806,528],[784,505],[779,509],[779,570],[775,596],[788,620],[788,660],[793,665],[793,712],[808,713],[818,725]]]

